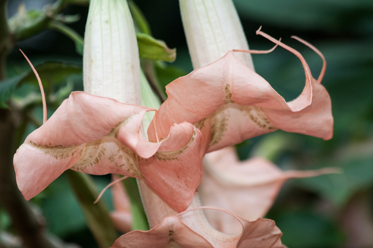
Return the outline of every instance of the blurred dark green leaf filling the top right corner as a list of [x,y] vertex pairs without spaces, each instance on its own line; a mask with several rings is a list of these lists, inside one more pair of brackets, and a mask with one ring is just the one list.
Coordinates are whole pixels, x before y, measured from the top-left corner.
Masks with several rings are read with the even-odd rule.
[[[275,25],[299,30],[320,30],[345,32],[353,30],[369,20],[373,1],[369,0],[234,0],[242,16],[256,20],[263,25]],[[342,16],[345,16],[343,20]],[[353,22],[347,21],[354,20]]]

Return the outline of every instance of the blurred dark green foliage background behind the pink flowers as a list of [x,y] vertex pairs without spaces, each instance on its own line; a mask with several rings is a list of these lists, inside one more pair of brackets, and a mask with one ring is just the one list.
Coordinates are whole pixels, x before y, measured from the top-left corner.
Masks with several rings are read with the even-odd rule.
[[[25,1],[28,9],[43,7],[46,2]],[[8,1],[9,17],[20,1]],[[176,61],[157,67],[162,85],[192,70],[186,47],[178,1],[135,0],[147,18],[153,36],[177,50]],[[285,184],[267,217],[282,230],[282,241],[289,248],[369,248],[373,247],[373,1],[372,0],[234,0],[251,49],[268,49],[272,43],[256,36],[262,30],[300,51],[317,78],[322,61],[303,44],[291,39],[297,35],[314,46],[327,61],[322,84],[332,99],[335,132],[324,141],[301,134],[275,133],[256,137],[237,146],[241,159],[262,155],[283,169],[340,167],[343,174],[291,180]],[[69,24],[82,36],[88,8],[69,6],[65,14],[79,14]],[[74,42],[57,31],[43,33],[17,43],[33,63],[47,64],[46,92],[51,94],[50,116],[71,90],[82,90],[82,58]],[[264,77],[287,101],[299,95],[304,86],[300,61],[282,48],[270,54],[253,55],[258,74]],[[9,55],[8,77],[29,70],[18,50]],[[53,71],[52,71],[53,70]],[[53,72],[54,77],[48,76]],[[43,72],[39,71],[40,74]],[[13,101],[30,107],[30,118],[16,143],[23,142],[42,120],[38,86],[33,79],[16,88]],[[29,83],[28,83],[29,82]],[[44,81],[43,81],[44,83]],[[21,133],[21,132],[20,132]],[[94,177],[99,188],[109,177]],[[110,194],[105,194],[111,206]],[[95,247],[66,178],[60,177],[32,199],[47,221],[50,232],[81,247]],[[250,211],[250,210],[248,210]],[[1,210],[0,226],[12,231],[7,213]]]

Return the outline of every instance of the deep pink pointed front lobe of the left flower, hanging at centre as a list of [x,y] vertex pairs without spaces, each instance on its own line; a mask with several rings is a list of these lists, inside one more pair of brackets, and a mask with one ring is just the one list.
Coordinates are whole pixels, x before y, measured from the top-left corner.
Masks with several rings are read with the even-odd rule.
[[140,160],[146,183],[178,212],[189,206],[202,178],[201,139],[192,124],[174,124],[158,152]]

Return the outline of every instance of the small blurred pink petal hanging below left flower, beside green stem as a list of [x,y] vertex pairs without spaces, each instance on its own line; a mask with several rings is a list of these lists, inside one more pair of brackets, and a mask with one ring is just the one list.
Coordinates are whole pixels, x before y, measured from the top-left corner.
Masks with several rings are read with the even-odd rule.
[[[112,178],[115,181],[118,176],[113,174]],[[120,182],[113,185],[112,198],[114,211],[110,213],[110,217],[117,230],[127,233],[132,229],[132,214],[128,194]]]

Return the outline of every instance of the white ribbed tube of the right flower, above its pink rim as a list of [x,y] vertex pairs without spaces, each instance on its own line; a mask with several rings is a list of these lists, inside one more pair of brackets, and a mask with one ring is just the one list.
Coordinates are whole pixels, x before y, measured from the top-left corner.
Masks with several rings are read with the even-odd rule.
[[[194,69],[218,60],[229,50],[249,49],[231,0],[180,0],[179,3]],[[250,54],[235,55],[254,69]]]

